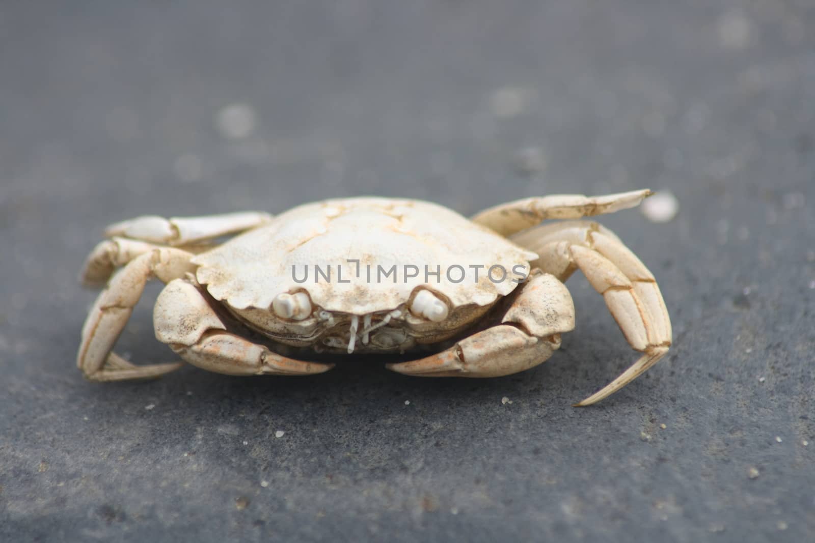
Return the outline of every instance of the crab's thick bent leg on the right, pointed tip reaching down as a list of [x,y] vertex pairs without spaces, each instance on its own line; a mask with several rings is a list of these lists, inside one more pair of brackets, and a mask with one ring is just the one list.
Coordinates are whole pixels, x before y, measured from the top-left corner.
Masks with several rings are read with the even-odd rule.
[[650,270],[610,230],[591,221],[567,221],[511,239],[540,255],[533,266],[562,281],[575,269],[583,271],[603,295],[628,344],[643,353],[617,379],[577,405],[592,405],[610,396],[665,356],[672,330],[662,293]]

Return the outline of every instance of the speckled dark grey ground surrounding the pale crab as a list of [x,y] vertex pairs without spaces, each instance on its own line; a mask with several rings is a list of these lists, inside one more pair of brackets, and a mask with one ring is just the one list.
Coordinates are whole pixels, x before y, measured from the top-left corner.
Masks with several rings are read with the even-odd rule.
[[[69,4],[0,7],[0,540],[815,539],[812,2]],[[603,222],[675,348],[593,409],[634,353],[583,278],[505,379],[74,367],[110,221],[642,186],[675,221]],[[171,357],[149,303],[120,350]]]

